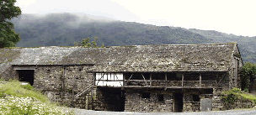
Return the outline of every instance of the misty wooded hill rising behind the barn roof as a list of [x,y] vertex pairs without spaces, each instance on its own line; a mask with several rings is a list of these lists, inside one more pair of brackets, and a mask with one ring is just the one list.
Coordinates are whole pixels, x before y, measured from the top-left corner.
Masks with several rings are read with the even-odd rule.
[[70,13],[45,16],[23,14],[13,20],[21,36],[20,47],[71,46],[87,37],[98,37],[98,44],[206,44],[237,42],[244,61],[256,62],[256,37],[224,34],[210,30],[183,29],[121,22],[109,18]]

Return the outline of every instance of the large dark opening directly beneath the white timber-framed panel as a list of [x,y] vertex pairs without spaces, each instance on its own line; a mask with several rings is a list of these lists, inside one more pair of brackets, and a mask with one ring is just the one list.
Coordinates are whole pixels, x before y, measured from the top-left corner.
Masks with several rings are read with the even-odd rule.
[[121,88],[100,88],[104,111],[124,112],[125,111],[125,91]]

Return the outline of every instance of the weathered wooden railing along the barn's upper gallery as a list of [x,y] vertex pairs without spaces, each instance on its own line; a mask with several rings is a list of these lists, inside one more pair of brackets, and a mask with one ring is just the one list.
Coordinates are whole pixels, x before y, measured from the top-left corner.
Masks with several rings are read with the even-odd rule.
[[[125,78],[125,77],[124,77]],[[115,80],[115,82],[119,82],[119,86],[115,87],[167,87],[167,88],[213,88],[213,87],[227,87],[229,86],[228,81],[205,81],[205,77],[202,79],[201,74],[199,74],[199,79],[196,81],[188,81],[188,79],[184,79],[184,74],[181,74],[181,80],[179,81],[172,81],[168,78],[174,78],[167,76],[165,74],[164,79],[162,80],[153,80],[152,74],[150,76],[145,77],[143,74],[141,74],[140,80],[137,78],[139,77],[133,77],[133,74],[131,74],[130,77],[126,77],[125,80]],[[112,80],[97,80],[95,81],[96,86],[111,86],[108,84],[99,85],[100,81],[105,82],[114,82]]]

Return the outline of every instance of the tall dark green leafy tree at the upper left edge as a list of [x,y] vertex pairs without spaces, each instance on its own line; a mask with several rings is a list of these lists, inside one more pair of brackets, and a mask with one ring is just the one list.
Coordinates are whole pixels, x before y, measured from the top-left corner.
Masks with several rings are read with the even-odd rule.
[[19,34],[15,34],[11,18],[21,14],[19,7],[14,6],[16,0],[0,0],[0,48],[13,47],[19,41]]

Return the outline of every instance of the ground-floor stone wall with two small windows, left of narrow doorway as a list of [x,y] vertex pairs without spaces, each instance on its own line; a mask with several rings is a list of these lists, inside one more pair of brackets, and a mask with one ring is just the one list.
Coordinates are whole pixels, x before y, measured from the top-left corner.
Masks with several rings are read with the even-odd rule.
[[[143,93],[150,97],[143,98]],[[163,94],[163,102],[158,102],[157,94]],[[172,112],[173,94],[159,90],[125,90],[125,111],[127,112]]]

